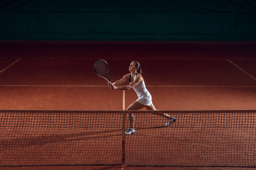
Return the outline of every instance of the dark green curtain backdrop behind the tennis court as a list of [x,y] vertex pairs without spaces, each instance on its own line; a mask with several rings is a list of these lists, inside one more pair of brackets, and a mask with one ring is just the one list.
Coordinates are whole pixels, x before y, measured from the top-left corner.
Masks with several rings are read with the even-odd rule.
[[255,0],[4,0],[0,40],[255,40]]

